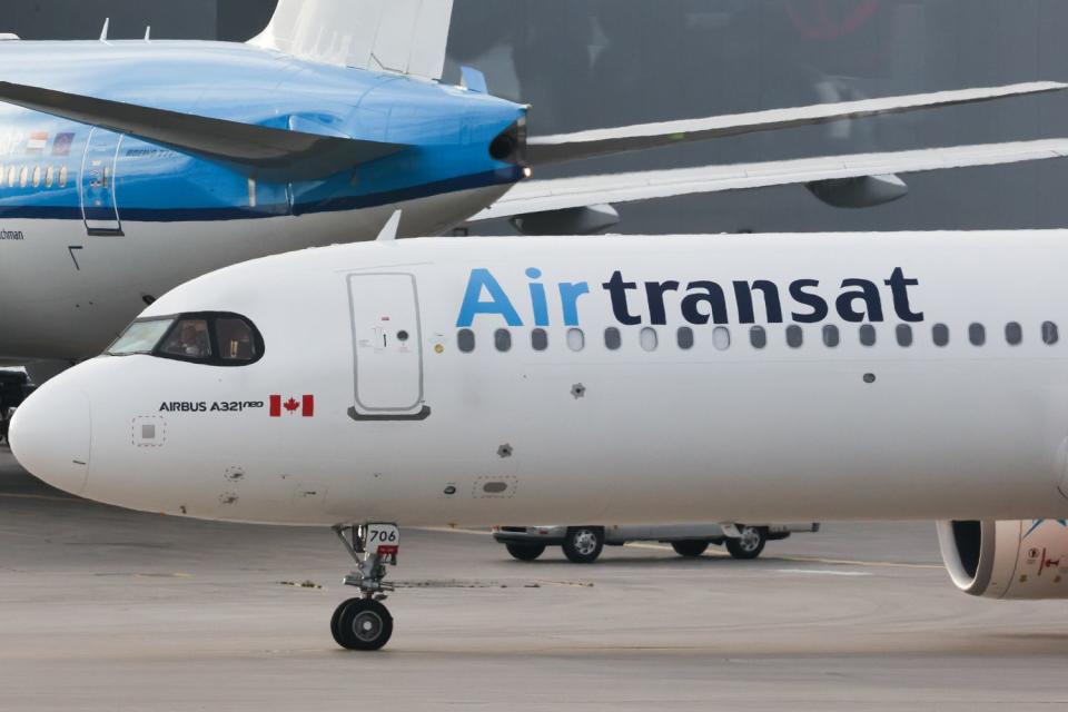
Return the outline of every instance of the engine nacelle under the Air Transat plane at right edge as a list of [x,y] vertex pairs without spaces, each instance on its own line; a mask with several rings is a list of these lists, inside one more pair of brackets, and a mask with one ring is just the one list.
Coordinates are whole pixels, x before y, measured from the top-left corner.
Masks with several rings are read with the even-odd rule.
[[939,522],[957,587],[987,599],[1068,599],[1068,525],[1057,520]]

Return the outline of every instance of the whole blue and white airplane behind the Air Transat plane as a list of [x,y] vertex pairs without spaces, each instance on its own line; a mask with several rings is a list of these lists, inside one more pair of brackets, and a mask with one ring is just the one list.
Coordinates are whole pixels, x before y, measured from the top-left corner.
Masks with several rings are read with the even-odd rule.
[[500,217],[526,231],[593,231],[616,220],[611,201],[803,184],[832,204],[874,205],[904,191],[883,174],[1065,150],[965,147],[516,186],[563,160],[1064,85],[528,139],[528,108],[490,96],[477,71],[465,71],[465,88],[438,82],[451,13],[451,0],[281,0],[247,44],[111,41],[107,28],[92,42],[0,41],[0,362],[66,367],[187,279],[370,239],[398,208],[404,236]]

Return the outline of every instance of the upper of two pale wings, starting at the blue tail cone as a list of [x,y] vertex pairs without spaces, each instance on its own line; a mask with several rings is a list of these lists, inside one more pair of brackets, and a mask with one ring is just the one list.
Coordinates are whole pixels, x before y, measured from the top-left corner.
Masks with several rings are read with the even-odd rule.
[[1066,88],[1068,85],[1060,82],[1035,81],[990,89],[965,89],[843,103],[821,103],[793,109],[773,109],[706,119],[642,123],[614,129],[532,137],[527,144],[527,159],[532,166],[544,166],[606,154],[622,154],[758,131],[817,126],[843,119],[978,103],[1008,97],[1060,91]]

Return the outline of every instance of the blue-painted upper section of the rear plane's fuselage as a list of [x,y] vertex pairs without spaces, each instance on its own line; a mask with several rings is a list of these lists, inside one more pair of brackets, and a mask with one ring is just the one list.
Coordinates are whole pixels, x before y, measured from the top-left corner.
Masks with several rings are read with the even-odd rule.
[[[523,107],[419,79],[221,42],[10,41],[0,43],[0,78],[14,83],[411,147],[322,179],[258,180],[250,187],[248,176],[218,162],[0,105],[0,218],[81,220],[83,207],[90,214],[113,207],[120,222],[268,218],[397,204],[522,178],[518,166],[494,160],[487,148],[523,116]],[[116,155],[111,206],[110,196],[92,195],[105,190],[80,184],[91,179],[82,171],[85,158],[107,162]]]

